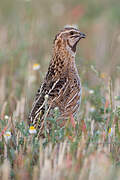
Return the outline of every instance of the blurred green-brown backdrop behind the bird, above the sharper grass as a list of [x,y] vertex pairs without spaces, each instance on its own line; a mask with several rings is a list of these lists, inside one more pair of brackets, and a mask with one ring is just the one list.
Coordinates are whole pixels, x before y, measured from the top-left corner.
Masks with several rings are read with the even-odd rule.
[[[91,65],[105,76],[119,76],[119,0],[1,0],[1,104],[21,94],[31,104],[47,71],[54,37],[66,24],[75,24],[87,34],[76,56],[83,86],[98,83]],[[34,63],[40,64],[40,71],[33,71]]]

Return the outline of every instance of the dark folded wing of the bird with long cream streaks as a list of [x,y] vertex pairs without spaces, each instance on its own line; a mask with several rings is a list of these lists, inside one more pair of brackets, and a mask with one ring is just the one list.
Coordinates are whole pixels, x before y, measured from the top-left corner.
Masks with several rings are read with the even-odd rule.
[[38,89],[34,103],[32,105],[32,110],[29,114],[29,123],[34,125],[38,119],[41,119],[43,116],[45,111],[45,95],[48,95],[48,103],[52,107],[52,104],[57,101],[57,99],[59,99],[61,93],[64,92],[67,88],[67,82],[68,79],[65,77],[59,78],[57,80],[53,79],[49,82],[46,80],[44,81],[41,88]]

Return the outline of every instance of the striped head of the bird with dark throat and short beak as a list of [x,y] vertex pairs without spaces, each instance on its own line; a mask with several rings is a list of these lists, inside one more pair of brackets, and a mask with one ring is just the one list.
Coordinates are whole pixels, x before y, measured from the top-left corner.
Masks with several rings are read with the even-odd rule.
[[54,40],[55,47],[59,50],[66,48],[70,54],[76,53],[76,46],[80,39],[85,38],[86,35],[77,28],[66,27],[56,35]]

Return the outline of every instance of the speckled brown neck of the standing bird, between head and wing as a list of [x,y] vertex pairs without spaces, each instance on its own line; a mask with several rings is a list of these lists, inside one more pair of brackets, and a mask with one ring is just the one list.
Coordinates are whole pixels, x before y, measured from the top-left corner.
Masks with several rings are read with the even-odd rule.
[[63,47],[58,49],[54,48],[46,80],[48,81],[51,78],[58,79],[64,75],[69,76],[70,73],[74,74],[75,72],[77,72],[75,56],[72,56],[70,52]]

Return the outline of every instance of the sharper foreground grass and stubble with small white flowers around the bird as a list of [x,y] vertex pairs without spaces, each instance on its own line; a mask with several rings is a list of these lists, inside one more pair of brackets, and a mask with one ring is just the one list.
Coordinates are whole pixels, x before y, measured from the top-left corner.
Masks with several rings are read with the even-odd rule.
[[[97,76],[99,85],[89,89],[83,84],[80,113],[75,120],[71,117],[64,128],[56,123],[59,111],[55,109],[54,117],[46,119],[52,122],[52,131],[49,136],[45,134],[45,139],[29,133],[22,93],[3,103],[1,180],[119,179],[120,106],[115,103],[120,101],[120,97],[113,96],[118,82],[113,86],[110,77],[98,72],[94,66],[91,71]],[[12,106],[15,110],[10,116]]]

